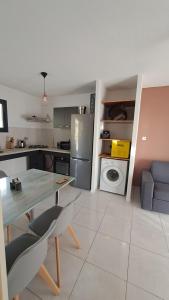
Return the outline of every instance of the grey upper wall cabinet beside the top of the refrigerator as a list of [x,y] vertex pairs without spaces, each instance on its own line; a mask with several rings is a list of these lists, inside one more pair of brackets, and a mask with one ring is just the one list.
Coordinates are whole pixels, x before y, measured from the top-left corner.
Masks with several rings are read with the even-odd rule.
[[78,113],[78,107],[56,107],[53,111],[53,127],[54,128],[70,128],[71,115]]

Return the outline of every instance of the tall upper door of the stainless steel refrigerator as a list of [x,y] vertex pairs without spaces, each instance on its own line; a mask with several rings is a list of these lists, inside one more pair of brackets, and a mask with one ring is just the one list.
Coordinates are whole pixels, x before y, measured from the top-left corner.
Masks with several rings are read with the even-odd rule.
[[93,115],[71,116],[71,157],[92,160]]

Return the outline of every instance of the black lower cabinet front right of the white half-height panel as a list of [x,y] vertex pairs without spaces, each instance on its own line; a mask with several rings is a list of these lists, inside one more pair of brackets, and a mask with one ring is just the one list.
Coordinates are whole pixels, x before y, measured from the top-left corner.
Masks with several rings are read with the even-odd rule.
[[45,170],[45,158],[43,152],[34,151],[28,156],[28,169]]

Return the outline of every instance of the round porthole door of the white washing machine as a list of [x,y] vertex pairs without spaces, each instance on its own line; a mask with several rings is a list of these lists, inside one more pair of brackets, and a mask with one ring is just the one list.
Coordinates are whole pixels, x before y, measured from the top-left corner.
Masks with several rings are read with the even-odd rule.
[[123,181],[123,174],[120,168],[107,166],[103,170],[103,180],[109,186],[118,186]]

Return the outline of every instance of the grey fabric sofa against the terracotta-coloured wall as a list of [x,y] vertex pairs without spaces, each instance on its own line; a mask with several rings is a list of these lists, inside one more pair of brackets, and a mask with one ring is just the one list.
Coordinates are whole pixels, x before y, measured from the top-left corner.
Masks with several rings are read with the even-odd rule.
[[141,207],[169,214],[169,162],[153,161],[141,176]]

